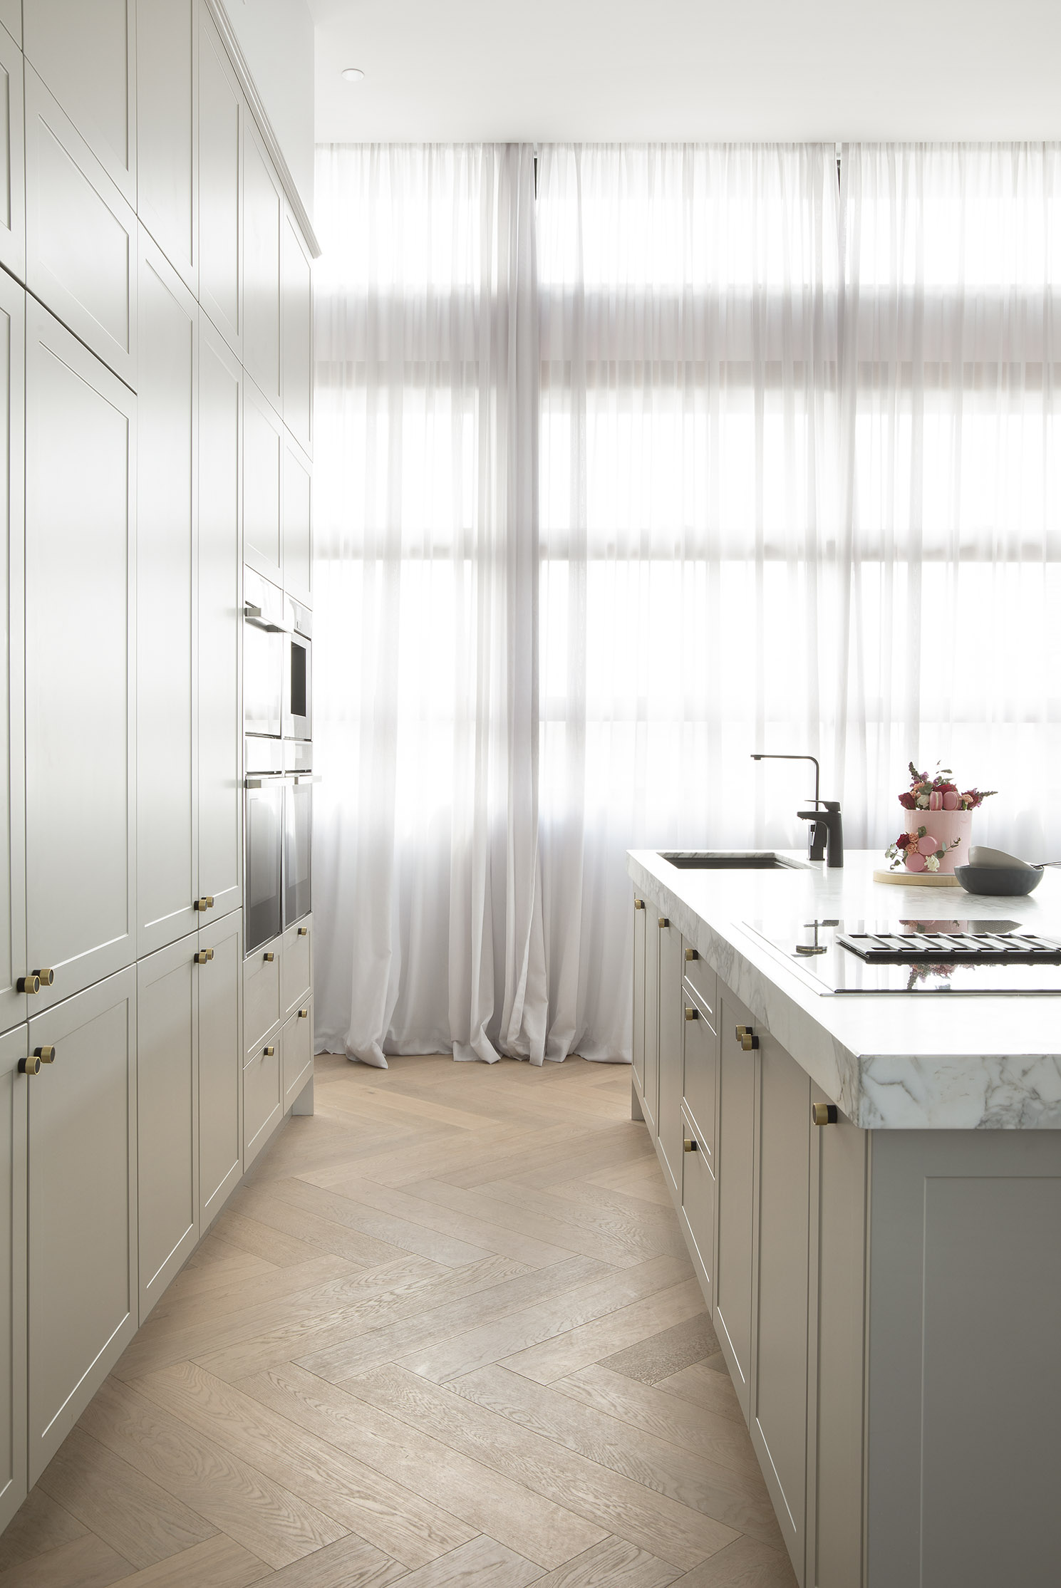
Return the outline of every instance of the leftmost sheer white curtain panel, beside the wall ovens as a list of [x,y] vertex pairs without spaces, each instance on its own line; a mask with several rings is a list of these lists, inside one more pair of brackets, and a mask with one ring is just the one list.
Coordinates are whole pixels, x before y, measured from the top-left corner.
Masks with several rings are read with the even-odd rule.
[[540,1061],[532,156],[316,184],[318,1039]]

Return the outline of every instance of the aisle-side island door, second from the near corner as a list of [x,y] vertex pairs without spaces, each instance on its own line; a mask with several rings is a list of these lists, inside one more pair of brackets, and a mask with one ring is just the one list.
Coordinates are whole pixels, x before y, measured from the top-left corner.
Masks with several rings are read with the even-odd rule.
[[810,1131],[807,1072],[767,1031],[759,1031],[751,1443],[801,1582],[807,1515]]

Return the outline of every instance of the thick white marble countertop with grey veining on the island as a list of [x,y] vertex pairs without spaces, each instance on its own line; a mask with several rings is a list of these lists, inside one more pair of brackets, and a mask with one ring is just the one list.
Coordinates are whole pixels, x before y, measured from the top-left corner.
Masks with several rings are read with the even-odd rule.
[[[778,851],[804,859],[797,851]],[[742,923],[977,916],[1061,935],[1061,872],[1026,899],[874,881],[878,851],[842,870],[678,870],[627,851],[634,885],[855,1124],[894,1131],[1061,1129],[1061,994],[828,996]]]

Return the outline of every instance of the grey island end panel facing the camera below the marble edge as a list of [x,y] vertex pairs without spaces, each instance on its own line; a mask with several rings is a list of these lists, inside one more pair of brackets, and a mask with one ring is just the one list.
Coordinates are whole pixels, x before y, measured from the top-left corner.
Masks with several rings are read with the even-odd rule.
[[869,1585],[1061,1561],[1061,1132],[875,1131]]

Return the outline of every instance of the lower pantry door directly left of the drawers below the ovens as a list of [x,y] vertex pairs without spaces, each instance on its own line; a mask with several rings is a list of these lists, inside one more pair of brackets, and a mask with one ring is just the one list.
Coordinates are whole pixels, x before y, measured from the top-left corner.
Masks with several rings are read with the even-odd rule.
[[205,1231],[243,1174],[243,918],[238,910],[199,934],[214,958],[199,975],[199,1220]]

